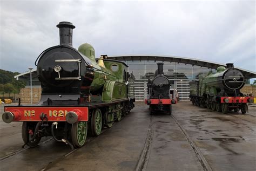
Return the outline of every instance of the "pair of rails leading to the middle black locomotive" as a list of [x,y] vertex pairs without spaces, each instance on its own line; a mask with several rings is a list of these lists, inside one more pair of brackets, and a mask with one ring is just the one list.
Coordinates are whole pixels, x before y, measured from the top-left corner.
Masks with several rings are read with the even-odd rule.
[[[208,164],[208,162],[204,158],[200,149],[194,144],[193,140],[187,134],[187,132],[185,131],[183,126],[178,122],[178,120],[174,117],[174,115],[171,115],[170,118],[174,120],[174,122],[178,125],[180,130],[183,132],[186,140],[188,141],[188,143],[192,147],[192,149],[193,149],[194,153],[196,154],[199,162],[201,163],[201,166],[203,167],[203,169],[206,170],[206,171],[211,171],[212,169],[211,169],[210,165]],[[149,130],[147,132],[147,139],[145,141],[143,151],[140,154],[140,159],[137,163],[136,171],[146,170],[147,162],[149,161],[152,140],[153,140],[153,121],[152,121],[152,115],[151,115],[150,116]]]

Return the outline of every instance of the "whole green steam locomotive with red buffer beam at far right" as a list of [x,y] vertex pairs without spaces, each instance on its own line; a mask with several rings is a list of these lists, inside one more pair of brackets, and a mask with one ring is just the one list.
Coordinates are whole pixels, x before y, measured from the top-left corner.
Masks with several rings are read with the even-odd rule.
[[217,73],[209,72],[206,76],[190,82],[190,101],[193,105],[204,106],[218,112],[228,111],[242,114],[248,111],[247,102],[253,102],[253,97],[246,97],[240,92],[245,85],[245,77],[232,63],[227,67],[219,66]]

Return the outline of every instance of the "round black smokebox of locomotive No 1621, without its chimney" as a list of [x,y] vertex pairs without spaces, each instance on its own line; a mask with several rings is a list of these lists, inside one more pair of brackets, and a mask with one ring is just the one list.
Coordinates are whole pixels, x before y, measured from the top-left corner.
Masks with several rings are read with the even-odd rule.
[[[82,59],[80,63],[81,80],[56,80],[58,72],[54,70],[55,66],[62,67],[59,72],[61,78],[78,77],[79,63],[77,62],[57,62],[56,59]],[[42,94],[77,94],[81,91],[89,93],[89,90],[81,90],[80,87],[91,85],[94,77],[94,71],[88,67],[89,59],[79,53],[76,49],[69,46],[54,46],[45,51],[39,58],[37,64],[38,79],[41,81]]]

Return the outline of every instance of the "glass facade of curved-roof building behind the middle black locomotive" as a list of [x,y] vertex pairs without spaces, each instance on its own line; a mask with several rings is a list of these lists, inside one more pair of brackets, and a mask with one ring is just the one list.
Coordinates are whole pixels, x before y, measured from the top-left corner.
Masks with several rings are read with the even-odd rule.
[[136,100],[143,101],[146,98],[147,79],[154,75],[157,70],[157,63],[164,63],[164,74],[173,81],[172,87],[177,89],[180,100],[189,99],[189,82],[196,79],[200,73],[215,72],[215,69],[200,67],[196,65],[171,63],[170,61],[153,61],[153,60],[127,60],[124,61],[129,66],[129,72],[132,72],[136,78]]

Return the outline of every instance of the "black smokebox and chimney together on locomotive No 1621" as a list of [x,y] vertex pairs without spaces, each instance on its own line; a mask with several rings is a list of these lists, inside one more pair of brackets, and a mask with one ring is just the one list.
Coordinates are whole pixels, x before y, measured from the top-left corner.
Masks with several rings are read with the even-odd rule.
[[[42,93],[78,94],[85,78],[91,82],[94,77],[94,71],[90,70],[92,63],[72,46],[72,30],[75,26],[70,22],[60,22],[57,27],[60,44],[46,49],[38,57],[37,74]],[[90,86],[90,83],[85,86]]]

